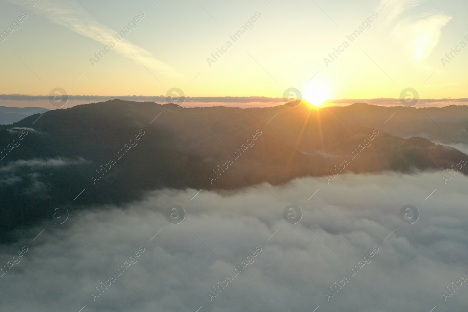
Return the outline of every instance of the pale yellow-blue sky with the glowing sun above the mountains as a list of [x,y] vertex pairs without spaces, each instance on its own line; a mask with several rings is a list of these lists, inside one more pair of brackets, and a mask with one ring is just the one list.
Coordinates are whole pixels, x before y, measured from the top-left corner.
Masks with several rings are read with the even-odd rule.
[[[0,94],[59,87],[71,95],[159,96],[177,87],[192,97],[281,98],[294,87],[319,104],[398,98],[412,87],[421,99],[468,97],[468,49],[460,46],[468,44],[466,1],[0,3],[1,31],[27,14],[0,43]],[[234,41],[238,30],[245,32]],[[459,52],[447,58],[452,48]],[[108,52],[96,58],[100,49]],[[225,52],[213,57],[217,49]]]

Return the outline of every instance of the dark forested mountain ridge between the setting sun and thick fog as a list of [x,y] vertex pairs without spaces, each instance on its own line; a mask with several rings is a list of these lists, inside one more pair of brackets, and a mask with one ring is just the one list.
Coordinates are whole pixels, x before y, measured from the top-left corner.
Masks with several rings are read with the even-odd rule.
[[[468,160],[431,142],[468,143],[467,106],[241,109],[113,100],[38,116],[0,130],[1,149],[11,148],[0,160],[4,238],[51,218],[59,205],[128,203],[149,188],[234,190],[306,175],[333,183],[346,172],[412,173]],[[468,174],[468,166],[460,171]]]

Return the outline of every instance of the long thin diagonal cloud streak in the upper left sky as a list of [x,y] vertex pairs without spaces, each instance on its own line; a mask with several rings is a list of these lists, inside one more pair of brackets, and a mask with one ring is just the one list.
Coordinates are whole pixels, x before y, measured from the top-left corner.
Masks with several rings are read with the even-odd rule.
[[[117,31],[110,29],[95,18],[92,13],[83,7],[80,3],[75,3],[70,0],[9,0],[15,5],[22,7],[32,7],[34,12],[49,21],[72,30],[73,32],[91,38],[101,44],[109,44],[113,41],[116,46],[113,51],[123,55],[126,58],[139,64],[141,62],[145,66],[155,70],[157,73],[164,74],[169,77],[183,76],[176,69],[167,65],[153,57],[153,54],[130,41],[122,39],[118,43],[112,37],[117,34]],[[37,2],[37,3],[36,3]],[[36,3],[36,4],[35,4]]]

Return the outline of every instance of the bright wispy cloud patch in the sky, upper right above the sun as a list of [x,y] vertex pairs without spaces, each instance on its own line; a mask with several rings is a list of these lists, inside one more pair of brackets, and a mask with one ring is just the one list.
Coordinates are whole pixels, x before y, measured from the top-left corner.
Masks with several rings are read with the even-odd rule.
[[[382,0],[382,5],[387,2]],[[436,7],[424,10],[423,0],[396,0],[388,2],[383,12],[392,26],[395,40],[400,41],[405,51],[416,64],[423,62],[439,43],[441,29],[451,17],[442,14]],[[410,12],[417,10],[417,12]]]

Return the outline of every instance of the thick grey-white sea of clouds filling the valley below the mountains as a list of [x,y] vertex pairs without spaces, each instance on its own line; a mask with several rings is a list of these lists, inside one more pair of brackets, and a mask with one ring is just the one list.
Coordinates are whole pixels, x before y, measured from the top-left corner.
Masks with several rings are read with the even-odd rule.
[[[2,267],[28,248],[0,277],[1,310],[466,311],[468,284],[445,302],[441,292],[468,277],[468,178],[444,185],[441,174],[341,174],[329,185],[307,177],[193,199],[198,190],[155,190],[161,200],[149,192],[120,207],[86,207],[62,225],[51,211],[50,222],[0,245]],[[186,212],[177,225],[165,216],[173,204]],[[295,225],[282,217],[290,204],[303,212]],[[400,219],[407,204],[420,212],[412,225]],[[93,301],[95,287],[141,246],[138,261]],[[234,277],[230,270],[257,246],[255,261]],[[374,246],[372,261],[327,301],[325,291]],[[227,275],[234,280],[210,301],[207,292]]]

